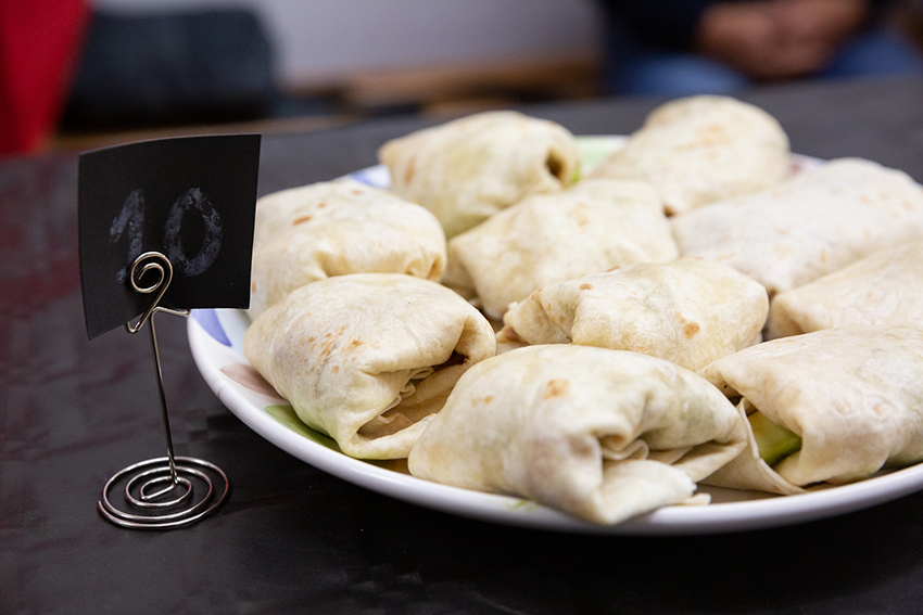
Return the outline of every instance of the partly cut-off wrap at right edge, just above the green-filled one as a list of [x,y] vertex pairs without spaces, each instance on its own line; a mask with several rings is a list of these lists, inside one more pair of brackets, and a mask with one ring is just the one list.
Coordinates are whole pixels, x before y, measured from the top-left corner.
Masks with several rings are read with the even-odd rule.
[[779,293],[771,313],[769,337],[855,324],[923,328],[923,236]]

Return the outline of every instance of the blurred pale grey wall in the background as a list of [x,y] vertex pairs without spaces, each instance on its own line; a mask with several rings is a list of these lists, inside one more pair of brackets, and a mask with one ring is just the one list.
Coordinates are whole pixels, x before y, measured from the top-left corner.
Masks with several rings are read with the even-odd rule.
[[599,20],[593,0],[96,0],[123,12],[248,7],[276,44],[280,84],[414,66],[586,56]]

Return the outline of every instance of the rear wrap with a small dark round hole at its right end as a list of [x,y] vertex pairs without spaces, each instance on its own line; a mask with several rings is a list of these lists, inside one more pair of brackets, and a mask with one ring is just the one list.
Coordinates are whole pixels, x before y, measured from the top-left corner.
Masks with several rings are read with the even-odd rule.
[[511,111],[480,113],[387,142],[378,157],[394,193],[431,209],[451,238],[524,196],[574,181],[566,128]]

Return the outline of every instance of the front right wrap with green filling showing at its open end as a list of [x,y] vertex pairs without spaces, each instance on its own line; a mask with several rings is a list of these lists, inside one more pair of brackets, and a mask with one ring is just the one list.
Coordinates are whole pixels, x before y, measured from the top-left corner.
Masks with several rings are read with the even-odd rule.
[[751,425],[747,451],[709,484],[796,494],[923,460],[923,331],[827,329],[764,342],[700,373]]

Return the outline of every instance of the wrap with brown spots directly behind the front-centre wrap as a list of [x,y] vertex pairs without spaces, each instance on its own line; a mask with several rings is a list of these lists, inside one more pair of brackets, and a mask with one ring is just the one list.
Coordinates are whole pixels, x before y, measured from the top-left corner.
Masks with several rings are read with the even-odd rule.
[[762,285],[696,257],[548,284],[503,316],[498,339],[633,350],[691,370],[760,341]]

